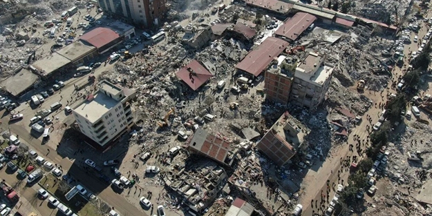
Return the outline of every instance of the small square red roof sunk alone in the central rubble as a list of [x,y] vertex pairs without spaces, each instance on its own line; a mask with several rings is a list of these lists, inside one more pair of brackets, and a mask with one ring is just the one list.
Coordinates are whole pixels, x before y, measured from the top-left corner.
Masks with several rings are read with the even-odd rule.
[[176,72],[176,75],[193,90],[197,90],[207,80],[213,77],[212,73],[205,69],[196,60],[192,60],[189,64],[187,64],[187,66],[178,70],[178,72]]

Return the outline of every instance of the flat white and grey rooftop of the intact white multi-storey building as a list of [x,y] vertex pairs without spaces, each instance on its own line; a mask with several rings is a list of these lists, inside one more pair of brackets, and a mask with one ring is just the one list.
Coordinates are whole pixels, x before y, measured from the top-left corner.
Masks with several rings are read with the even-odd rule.
[[96,92],[93,97],[91,101],[86,100],[73,109],[77,114],[86,117],[91,123],[100,119],[100,117],[118,104],[118,101],[106,96],[102,92]]

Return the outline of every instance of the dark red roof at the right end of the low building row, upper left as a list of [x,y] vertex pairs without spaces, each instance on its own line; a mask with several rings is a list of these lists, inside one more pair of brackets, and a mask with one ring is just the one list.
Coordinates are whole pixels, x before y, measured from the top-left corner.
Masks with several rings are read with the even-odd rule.
[[90,43],[96,48],[101,48],[102,46],[105,46],[106,44],[110,43],[111,41],[114,41],[115,39],[118,39],[119,37],[120,35],[115,33],[113,30],[109,28],[100,27],[100,28],[95,28],[90,32],[87,32],[86,34],[79,37],[79,39],[81,39],[82,41],[86,41],[87,43]]

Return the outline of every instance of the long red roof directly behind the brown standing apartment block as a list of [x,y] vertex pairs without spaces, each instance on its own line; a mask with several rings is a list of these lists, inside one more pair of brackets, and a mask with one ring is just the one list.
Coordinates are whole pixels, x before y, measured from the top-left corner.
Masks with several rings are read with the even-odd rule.
[[288,46],[287,41],[276,37],[267,37],[257,48],[249,52],[249,54],[236,65],[238,70],[258,76],[274,57],[277,57]]

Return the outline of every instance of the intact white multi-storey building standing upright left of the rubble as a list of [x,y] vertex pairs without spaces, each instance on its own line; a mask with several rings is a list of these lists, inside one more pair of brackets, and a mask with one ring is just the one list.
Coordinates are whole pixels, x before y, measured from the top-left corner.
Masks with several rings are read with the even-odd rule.
[[73,108],[79,130],[102,147],[133,125],[129,100],[135,90],[120,88],[109,81],[97,84],[98,90]]

